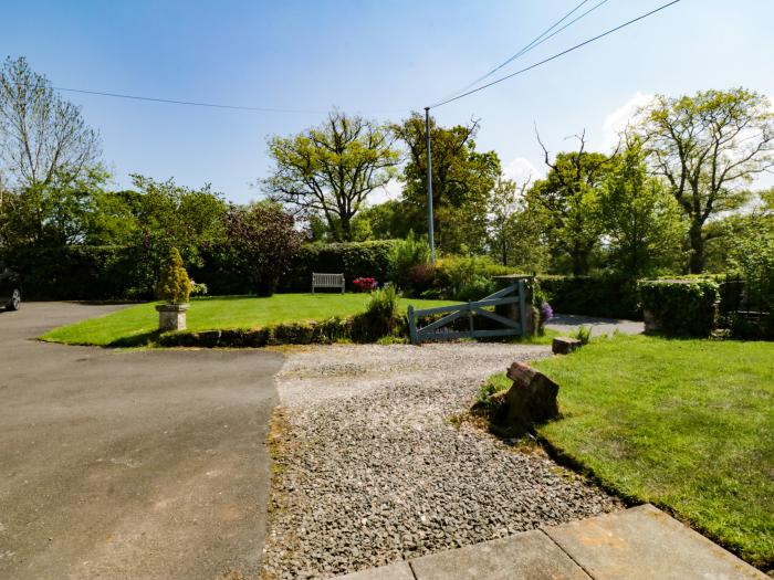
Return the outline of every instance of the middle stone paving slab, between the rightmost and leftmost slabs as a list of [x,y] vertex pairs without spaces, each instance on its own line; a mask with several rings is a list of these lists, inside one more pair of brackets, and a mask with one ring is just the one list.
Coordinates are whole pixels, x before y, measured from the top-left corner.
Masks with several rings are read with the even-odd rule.
[[417,580],[588,580],[540,530],[411,560]]

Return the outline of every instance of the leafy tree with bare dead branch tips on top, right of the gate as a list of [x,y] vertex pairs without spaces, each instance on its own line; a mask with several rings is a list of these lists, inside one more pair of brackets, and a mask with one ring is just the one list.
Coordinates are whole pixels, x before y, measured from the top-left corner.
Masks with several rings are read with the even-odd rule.
[[573,274],[588,274],[589,257],[603,233],[599,189],[616,162],[611,156],[586,151],[585,134],[577,151],[551,154],[537,138],[548,175],[526,194],[530,212],[544,223],[550,246],[572,261]]

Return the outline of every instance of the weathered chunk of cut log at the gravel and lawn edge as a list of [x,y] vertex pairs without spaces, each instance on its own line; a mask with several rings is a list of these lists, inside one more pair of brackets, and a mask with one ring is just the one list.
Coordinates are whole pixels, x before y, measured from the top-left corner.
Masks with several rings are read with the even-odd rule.
[[505,398],[510,424],[529,426],[558,416],[559,386],[548,377],[529,365],[514,362],[508,369],[508,378],[513,381]]

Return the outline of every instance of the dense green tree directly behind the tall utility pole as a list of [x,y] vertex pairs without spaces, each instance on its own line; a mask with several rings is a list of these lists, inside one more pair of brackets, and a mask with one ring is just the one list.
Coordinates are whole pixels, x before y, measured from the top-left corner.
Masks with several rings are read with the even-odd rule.
[[[478,130],[478,120],[444,128],[430,119],[433,229],[438,245],[450,252],[483,251],[487,242],[487,204],[500,159],[494,151],[475,150]],[[401,176],[407,218],[416,231],[427,232],[425,117],[415,112],[393,131],[407,148]]]

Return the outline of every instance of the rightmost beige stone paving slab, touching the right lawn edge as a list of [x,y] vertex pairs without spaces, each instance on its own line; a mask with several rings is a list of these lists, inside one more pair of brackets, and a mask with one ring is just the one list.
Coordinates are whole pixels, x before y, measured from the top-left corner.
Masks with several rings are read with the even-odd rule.
[[594,580],[771,580],[649,504],[543,531]]

